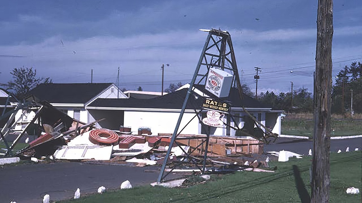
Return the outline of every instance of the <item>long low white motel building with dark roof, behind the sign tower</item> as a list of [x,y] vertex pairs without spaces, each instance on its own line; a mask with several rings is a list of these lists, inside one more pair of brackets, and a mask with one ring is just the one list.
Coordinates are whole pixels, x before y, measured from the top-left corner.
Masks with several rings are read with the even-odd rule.
[[[182,104],[189,85],[184,85],[178,90],[151,99],[114,99],[97,98],[85,106],[94,119],[100,119],[107,115],[107,122],[102,127],[116,129],[120,125],[130,126],[132,131],[137,131],[139,127],[150,127],[152,134],[173,133],[180,114]],[[205,126],[195,117],[195,109],[200,109],[203,99],[207,93],[202,91],[202,86],[197,86],[194,90],[196,95],[190,96],[186,105],[186,111],[182,118],[180,130],[189,122],[182,134],[206,134]],[[206,93],[206,94],[205,94]],[[236,117],[235,121],[224,117],[224,122],[231,126],[244,126],[243,116],[246,113],[241,107],[241,103],[249,113],[255,116],[263,125],[268,126],[274,133],[281,132],[281,116],[283,111],[272,110],[269,105],[259,103],[257,100],[243,95],[240,100],[237,91],[232,89],[228,100],[232,103],[231,113]],[[112,113],[108,113],[112,112]],[[206,112],[202,112],[204,118]],[[214,135],[235,135],[235,130],[231,128],[211,128]]]

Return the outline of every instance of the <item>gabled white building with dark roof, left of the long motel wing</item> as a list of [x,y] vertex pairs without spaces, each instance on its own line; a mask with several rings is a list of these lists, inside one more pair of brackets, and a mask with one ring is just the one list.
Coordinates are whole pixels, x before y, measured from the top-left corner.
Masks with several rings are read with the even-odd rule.
[[[79,121],[94,121],[85,109],[98,98],[128,98],[113,83],[51,83],[41,84],[30,91],[27,98],[46,100],[54,107]],[[21,112],[18,113],[20,116]]]

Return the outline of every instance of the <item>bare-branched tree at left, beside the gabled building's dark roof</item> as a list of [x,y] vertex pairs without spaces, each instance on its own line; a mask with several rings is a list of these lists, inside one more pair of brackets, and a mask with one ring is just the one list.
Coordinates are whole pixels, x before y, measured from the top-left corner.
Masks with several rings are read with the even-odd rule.
[[37,77],[37,70],[33,69],[33,67],[14,68],[10,74],[13,76],[13,80],[5,84],[5,87],[6,90],[12,91],[18,98],[27,95],[30,90],[42,83],[52,83],[50,78]]

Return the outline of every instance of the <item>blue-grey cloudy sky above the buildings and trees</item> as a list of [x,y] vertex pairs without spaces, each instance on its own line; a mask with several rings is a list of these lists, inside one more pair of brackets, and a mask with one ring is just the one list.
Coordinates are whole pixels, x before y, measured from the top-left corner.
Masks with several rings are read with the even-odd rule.
[[[0,83],[33,66],[55,83],[116,82],[145,91],[190,82],[207,33],[231,34],[244,83],[258,92],[312,91],[317,0],[12,0],[0,7]],[[362,62],[362,1],[334,1],[333,76]],[[290,71],[293,70],[293,73]]]

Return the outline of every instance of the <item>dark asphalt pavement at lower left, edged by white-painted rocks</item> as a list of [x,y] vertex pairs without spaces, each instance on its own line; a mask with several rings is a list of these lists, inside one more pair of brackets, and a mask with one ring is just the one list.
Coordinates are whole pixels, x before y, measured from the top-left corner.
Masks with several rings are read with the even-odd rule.
[[0,202],[39,203],[45,194],[51,200],[72,198],[77,187],[81,193],[95,193],[98,187],[116,188],[129,180],[132,186],[150,184],[159,173],[144,172],[159,167],[93,165],[78,162],[18,165],[0,169]]

